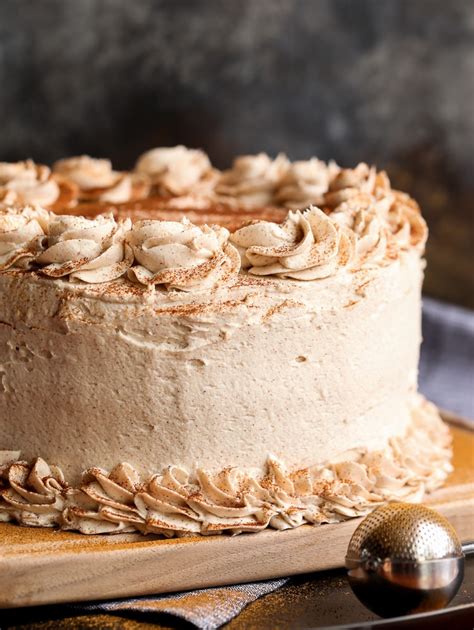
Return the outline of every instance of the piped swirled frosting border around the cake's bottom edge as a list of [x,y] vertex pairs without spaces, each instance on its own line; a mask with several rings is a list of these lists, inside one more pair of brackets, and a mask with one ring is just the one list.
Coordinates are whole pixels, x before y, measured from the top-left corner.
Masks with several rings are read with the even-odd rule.
[[0,520],[84,534],[166,537],[288,529],[363,516],[386,501],[417,502],[451,472],[450,433],[420,400],[412,423],[385,450],[355,449],[333,462],[289,470],[270,457],[265,473],[237,468],[195,473],[169,466],[143,479],[127,463],[91,468],[79,487],[41,458],[0,452]]

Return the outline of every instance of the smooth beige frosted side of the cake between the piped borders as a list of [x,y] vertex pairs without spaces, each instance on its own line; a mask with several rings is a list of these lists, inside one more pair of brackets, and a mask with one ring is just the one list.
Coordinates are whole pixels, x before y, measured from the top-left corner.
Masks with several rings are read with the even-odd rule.
[[15,422],[0,422],[2,446],[72,481],[121,460],[151,474],[383,448],[409,424],[421,279],[415,251],[312,282],[240,273],[198,293],[3,272],[0,418]]

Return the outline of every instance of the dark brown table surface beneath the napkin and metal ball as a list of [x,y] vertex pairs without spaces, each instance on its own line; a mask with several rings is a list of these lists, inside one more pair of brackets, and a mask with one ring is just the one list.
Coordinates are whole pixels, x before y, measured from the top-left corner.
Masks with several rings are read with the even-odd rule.
[[[433,616],[434,615],[434,616]],[[145,630],[146,628],[190,628],[187,623],[165,615],[160,623],[140,616],[121,618],[114,615],[82,615],[72,613],[67,606],[42,606],[0,611],[2,630],[23,628],[30,630]],[[378,620],[378,621],[377,621]],[[357,627],[374,628],[444,628],[446,625],[459,630],[474,626],[474,555],[466,558],[463,584],[444,611],[428,617],[417,615],[403,620],[380,620],[370,613],[353,595],[345,571],[334,570],[301,575],[278,591],[249,604],[243,612],[228,623],[228,630],[279,630],[295,628],[322,628],[357,624]]]

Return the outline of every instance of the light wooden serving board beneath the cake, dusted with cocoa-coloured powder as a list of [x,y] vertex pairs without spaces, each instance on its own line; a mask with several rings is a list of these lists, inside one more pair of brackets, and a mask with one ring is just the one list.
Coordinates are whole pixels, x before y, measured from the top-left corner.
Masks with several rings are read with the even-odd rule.
[[[426,504],[474,540],[474,433],[455,418],[454,472]],[[240,536],[160,540],[0,524],[0,607],[98,600],[249,582],[343,566],[362,519]]]

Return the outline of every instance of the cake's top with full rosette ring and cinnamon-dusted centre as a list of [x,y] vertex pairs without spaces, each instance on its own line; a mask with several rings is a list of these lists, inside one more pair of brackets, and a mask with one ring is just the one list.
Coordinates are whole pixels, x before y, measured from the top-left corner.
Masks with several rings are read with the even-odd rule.
[[222,172],[183,146],[148,151],[132,172],[88,156],[52,169],[0,163],[0,200],[0,272],[88,284],[201,291],[242,273],[317,281],[421,254],[427,236],[416,202],[385,172],[283,154],[238,157]]

